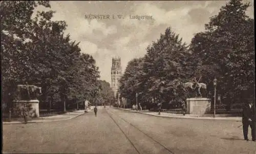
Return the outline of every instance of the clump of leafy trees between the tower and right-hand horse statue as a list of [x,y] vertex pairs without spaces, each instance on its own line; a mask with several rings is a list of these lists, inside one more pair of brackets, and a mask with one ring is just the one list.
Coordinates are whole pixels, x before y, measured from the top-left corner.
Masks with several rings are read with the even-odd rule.
[[[170,28],[160,39],[147,47],[143,58],[133,59],[121,78],[120,92],[125,98],[135,101],[136,93],[143,103],[160,101],[168,104],[173,98],[185,99],[182,84],[193,73],[189,67],[191,55],[187,46]],[[190,71],[190,72],[189,72]]]

